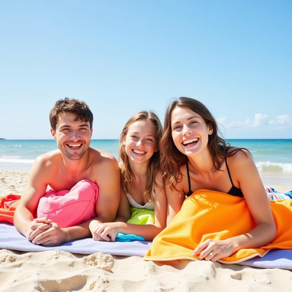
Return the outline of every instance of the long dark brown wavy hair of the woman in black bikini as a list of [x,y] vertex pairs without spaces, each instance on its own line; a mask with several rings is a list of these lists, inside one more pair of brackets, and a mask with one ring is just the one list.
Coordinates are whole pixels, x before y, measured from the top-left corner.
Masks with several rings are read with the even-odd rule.
[[222,134],[218,129],[217,122],[205,105],[192,98],[180,97],[175,99],[166,110],[164,131],[159,142],[159,149],[161,151],[160,167],[163,173],[163,180],[164,183],[167,182],[169,184],[171,189],[175,189],[175,185],[182,180],[183,176],[180,167],[187,163],[187,156],[176,148],[171,135],[171,113],[175,107],[191,109],[204,119],[206,125],[213,129],[213,133],[208,138],[208,148],[213,161],[212,171],[220,170],[220,157],[230,157],[237,151],[247,150],[246,148],[236,148],[227,153],[230,144],[220,137]]

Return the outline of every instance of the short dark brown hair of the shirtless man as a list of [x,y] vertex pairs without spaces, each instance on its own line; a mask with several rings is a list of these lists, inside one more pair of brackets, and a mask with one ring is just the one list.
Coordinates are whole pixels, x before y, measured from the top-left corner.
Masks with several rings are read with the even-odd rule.
[[89,122],[90,128],[92,128],[93,114],[88,105],[86,105],[84,101],[66,97],[65,99],[59,99],[51,109],[49,117],[51,127],[54,131],[56,130],[59,114],[62,112],[72,112],[76,114],[74,121],[81,120]]

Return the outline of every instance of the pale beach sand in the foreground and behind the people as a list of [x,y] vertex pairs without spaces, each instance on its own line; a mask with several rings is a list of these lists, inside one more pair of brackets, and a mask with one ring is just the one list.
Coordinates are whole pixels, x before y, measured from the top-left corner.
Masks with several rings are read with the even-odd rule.
[[[0,170],[0,195],[21,194],[27,171]],[[265,184],[267,185],[267,184]],[[290,185],[269,185],[286,191]],[[137,256],[0,250],[0,292],[290,291],[292,272],[211,261],[154,263]]]

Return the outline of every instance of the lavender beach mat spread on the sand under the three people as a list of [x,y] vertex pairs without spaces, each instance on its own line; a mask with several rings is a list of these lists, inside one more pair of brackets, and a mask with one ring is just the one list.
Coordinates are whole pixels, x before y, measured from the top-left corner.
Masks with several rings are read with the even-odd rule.
[[[151,247],[151,244],[151,241],[102,242],[94,241],[92,238],[85,238],[69,241],[59,246],[46,247],[32,244],[30,241],[27,241],[13,225],[0,223],[0,248],[18,251],[47,251],[60,249],[71,253],[91,254],[100,251],[112,255],[143,257],[146,251]],[[273,249],[263,258],[257,256],[241,262],[239,265],[292,270],[292,249]]]

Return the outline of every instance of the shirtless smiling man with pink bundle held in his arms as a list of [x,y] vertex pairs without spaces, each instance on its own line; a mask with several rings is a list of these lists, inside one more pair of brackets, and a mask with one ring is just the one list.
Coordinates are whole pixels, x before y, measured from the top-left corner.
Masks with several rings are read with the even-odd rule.
[[17,230],[44,246],[90,237],[91,220],[114,221],[120,196],[116,159],[89,147],[93,115],[88,105],[58,100],[50,123],[59,149],[35,159],[14,216]]

